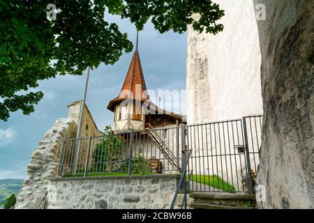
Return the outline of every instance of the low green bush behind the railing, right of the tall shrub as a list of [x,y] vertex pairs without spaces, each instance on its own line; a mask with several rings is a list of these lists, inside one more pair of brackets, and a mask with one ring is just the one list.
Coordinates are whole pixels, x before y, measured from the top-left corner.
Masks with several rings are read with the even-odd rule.
[[[126,159],[121,164],[121,171],[128,171],[128,163],[130,158],[126,157]],[[137,156],[131,158],[131,172],[133,174],[150,174],[151,170],[147,166],[147,160],[145,157]]]

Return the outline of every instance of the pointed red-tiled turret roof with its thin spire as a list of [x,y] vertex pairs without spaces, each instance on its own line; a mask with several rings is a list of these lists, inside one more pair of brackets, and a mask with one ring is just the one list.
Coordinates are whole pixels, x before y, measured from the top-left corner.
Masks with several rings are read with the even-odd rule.
[[121,102],[126,98],[141,101],[146,101],[148,99],[144,74],[140,61],[140,54],[138,53],[137,47],[138,32],[136,34],[135,52],[130,62],[130,66],[128,67],[128,72],[126,73],[126,78],[124,79],[124,84],[122,85],[119,96],[112,99],[107,106],[107,109],[112,112],[114,111],[114,104]]

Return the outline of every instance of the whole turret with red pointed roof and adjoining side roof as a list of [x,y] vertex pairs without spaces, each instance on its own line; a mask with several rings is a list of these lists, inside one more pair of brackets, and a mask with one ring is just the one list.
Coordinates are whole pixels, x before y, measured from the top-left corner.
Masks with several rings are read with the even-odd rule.
[[137,45],[138,33],[124,84],[118,97],[110,100],[107,106],[107,109],[114,112],[113,130],[144,130],[186,122],[185,116],[160,109],[149,100]]

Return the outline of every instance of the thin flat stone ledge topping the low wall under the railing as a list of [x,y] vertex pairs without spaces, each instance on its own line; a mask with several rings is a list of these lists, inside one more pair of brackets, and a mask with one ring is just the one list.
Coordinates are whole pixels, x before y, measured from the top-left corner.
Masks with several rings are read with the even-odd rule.
[[112,179],[150,179],[150,178],[180,178],[181,174],[152,174],[152,175],[140,175],[140,176],[87,176],[87,177],[58,177],[58,178],[50,178],[50,180],[54,181],[63,181],[63,180],[112,180]]

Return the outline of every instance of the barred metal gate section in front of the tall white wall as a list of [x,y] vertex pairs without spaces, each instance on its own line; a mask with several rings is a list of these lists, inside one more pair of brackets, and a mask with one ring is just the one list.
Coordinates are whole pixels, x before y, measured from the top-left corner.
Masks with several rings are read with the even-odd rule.
[[195,192],[253,193],[262,116],[187,126],[187,172]]

